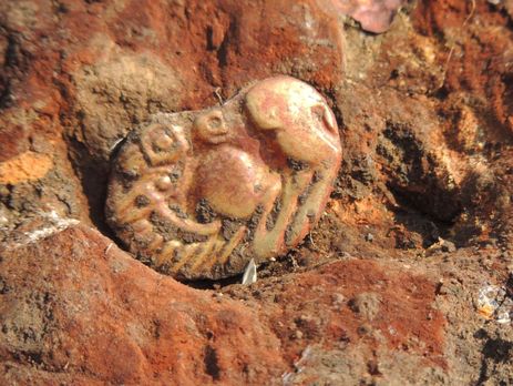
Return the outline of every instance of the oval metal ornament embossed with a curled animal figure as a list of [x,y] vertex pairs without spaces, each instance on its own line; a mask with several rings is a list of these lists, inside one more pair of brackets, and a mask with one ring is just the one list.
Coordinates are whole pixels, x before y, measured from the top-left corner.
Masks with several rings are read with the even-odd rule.
[[322,213],[341,161],[334,113],[310,85],[259,81],[222,106],[156,114],[113,166],[116,235],[178,278],[239,274],[297,245]]

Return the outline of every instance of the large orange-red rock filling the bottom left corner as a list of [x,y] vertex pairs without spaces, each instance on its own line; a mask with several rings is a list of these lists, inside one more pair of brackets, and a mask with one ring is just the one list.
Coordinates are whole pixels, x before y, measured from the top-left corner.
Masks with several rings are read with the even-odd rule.
[[1,256],[2,384],[267,384],[287,368],[249,308],[157,274],[86,226]]

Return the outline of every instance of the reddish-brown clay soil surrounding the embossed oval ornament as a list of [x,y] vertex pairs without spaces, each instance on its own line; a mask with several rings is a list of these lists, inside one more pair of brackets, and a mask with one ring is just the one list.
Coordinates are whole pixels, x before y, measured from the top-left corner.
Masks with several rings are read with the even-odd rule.
[[[0,384],[513,384],[513,2],[0,2]],[[339,125],[314,231],[252,285],[125,252],[119,141],[278,73]]]

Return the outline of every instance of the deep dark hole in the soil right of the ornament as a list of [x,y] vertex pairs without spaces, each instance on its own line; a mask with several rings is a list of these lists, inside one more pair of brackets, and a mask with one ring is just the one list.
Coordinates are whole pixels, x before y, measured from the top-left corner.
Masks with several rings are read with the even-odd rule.
[[[400,206],[391,207],[396,222],[419,234],[423,247],[449,235],[463,209],[460,190],[449,187],[448,172],[425,141],[414,128],[387,121],[376,149],[387,189]],[[408,240],[403,244],[409,248]]]

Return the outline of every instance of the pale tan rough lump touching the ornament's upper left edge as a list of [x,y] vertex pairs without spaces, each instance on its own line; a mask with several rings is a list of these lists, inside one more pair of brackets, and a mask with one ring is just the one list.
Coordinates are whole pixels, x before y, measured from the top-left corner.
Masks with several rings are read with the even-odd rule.
[[106,35],[90,44],[100,51],[98,60],[73,73],[75,114],[85,129],[76,138],[94,158],[109,161],[134,124],[152,113],[178,109],[185,84],[179,72],[154,54],[125,52]]

